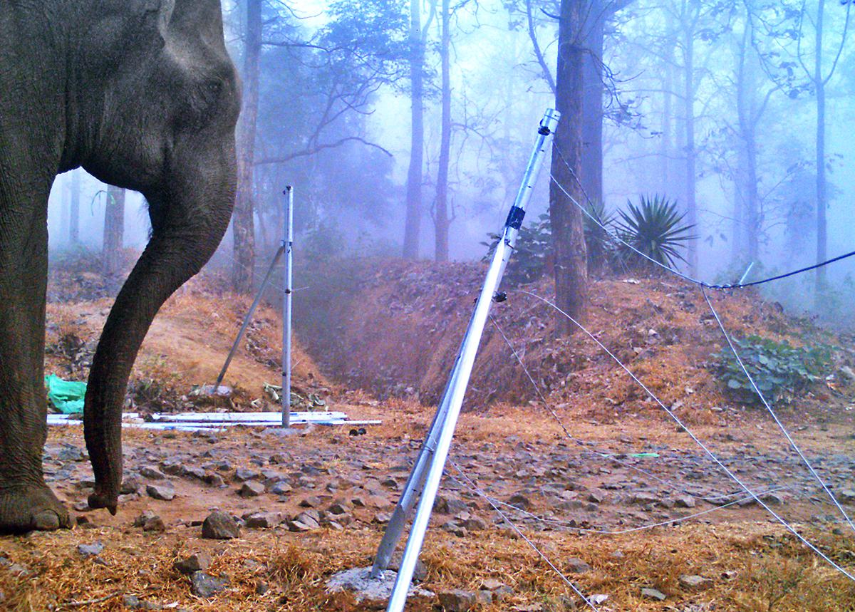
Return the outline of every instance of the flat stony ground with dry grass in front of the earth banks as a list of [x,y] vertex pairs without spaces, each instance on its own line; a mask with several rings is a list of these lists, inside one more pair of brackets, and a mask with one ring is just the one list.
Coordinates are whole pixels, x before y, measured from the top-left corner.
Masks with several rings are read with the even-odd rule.
[[[51,431],[45,470],[74,507],[76,528],[0,541],[7,605],[376,608],[328,593],[326,582],[335,571],[370,564],[429,413],[404,404],[392,414],[364,403],[336,408],[385,422],[364,435],[348,427],[130,432],[115,517],[86,509],[91,468],[79,429]],[[762,427],[750,441],[722,427],[699,436],[747,485],[771,491],[765,503],[852,567],[852,532],[774,425]],[[844,427],[824,428],[810,427],[800,441],[855,511],[855,439]],[[458,431],[419,575],[434,596],[412,609],[562,610],[581,603],[458,468],[583,593],[597,596],[598,609],[764,610],[780,597],[775,609],[834,610],[846,609],[834,602],[855,602],[845,579],[814,561],[752,500],[728,495],[738,487],[661,421],[588,424],[576,432],[584,444],[564,438],[546,416],[518,410],[465,415]],[[640,452],[658,456],[632,456]],[[696,513],[705,514],[681,521]],[[662,526],[630,531],[653,523]],[[787,563],[798,575],[773,580]],[[794,580],[788,590],[787,580]],[[836,594],[817,599],[820,586]],[[100,597],[108,598],[96,602]]]

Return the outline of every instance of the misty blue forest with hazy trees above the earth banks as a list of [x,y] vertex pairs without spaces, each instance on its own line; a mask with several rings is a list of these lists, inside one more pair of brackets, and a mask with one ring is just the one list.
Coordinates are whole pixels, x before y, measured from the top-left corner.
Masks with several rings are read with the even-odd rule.
[[[734,282],[751,262],[758,278],[852,250],[851,13],[837,0],[224,2],[244,108],[219,261],[252,290],[285,185],[306,256],[481,259],[547,107],[563,111],[556,179],[614,218],[642,197],[675,203],[692,227],[684,271]],[[555,269],[573,268],[557,273],[559,302],[584,309],[603,267],[580,261],[581,214],[548,174],[528,221],[549,214]],[[111,193],[80,170],[57,179],[52,248],[100,248]],[[144,244],[137,194],[113,219],[109,244]],[[851,274],[843,262],[768,291],[851,318]]]

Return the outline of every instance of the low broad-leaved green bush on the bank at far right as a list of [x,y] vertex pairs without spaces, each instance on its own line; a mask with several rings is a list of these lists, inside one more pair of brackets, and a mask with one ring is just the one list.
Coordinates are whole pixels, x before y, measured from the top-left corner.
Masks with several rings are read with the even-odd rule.
[[[820,380],[831,368],[831,350],[827,346],[796,347],[760,336],[748,336],[734,346],[739,351],[758,389],[772,403],[789,403],[793,395]],[[733,351],[724,348],[712,355],[713,367],[728,392],[742,403],[760,401],[740,368]]]

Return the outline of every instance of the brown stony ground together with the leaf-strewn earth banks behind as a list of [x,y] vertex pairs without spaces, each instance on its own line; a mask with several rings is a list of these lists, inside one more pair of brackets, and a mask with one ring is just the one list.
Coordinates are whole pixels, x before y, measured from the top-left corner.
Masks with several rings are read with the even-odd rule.
[[[442,379],[441,370],[450,363],[443,355],[453,353],[460,338],[458,321],[468,316],[469,279],[478,275],[471,267],[451,274],[445,268],[401,265],[406,269],[386,270],[398,279],[395,283],[404,283],[399,291],[390,288],[386,273],[362,283],[358,296],[351,293],[357,305],[336,302],[342,310],[339,322],[327,321],[330,332],[304,332],[317,361],[302,350],[295,356],[299,388],[320,392],[333,409],[353,419],[381,419],[381,426],[358,436],[350,435],[350,427],[305,427],[290,435],[246,428],[215,434],[128,431],[127,493],[115,516],[85,509],[91,468],[80,428],[52,429],[45,448],[46,474],[57,494],[74,507],[78,525],[61,533],[0,539],[0,557],[5,559],[0,561],[0,609],[375,609],[376,604],[357,603],[348,594],[328,593],[326,581],[340,569],[372,560],[430,420],[433,408],[428,400],[438,392],[430,391],[431,385]],[[416,272],[427,280],[407,276]],[[437,288],[440,275],[451,276],[458,287],[453,295]],[[840,523],[774,422],[756,408],[728,403],[703,366],[716,339],[701,318],[699,298],[657,283],[598,283],[588,324],[604,330],[599,338],[622,350],[630,367],[669,405],[681,403],[675,409],[678,414],[747,485],[765,491],[770,508],[793,521],[799,533],[834,562],[855,569],[852,530]],[[420,296],[416,286],[422,285],[420,291],[427,292]],[[215,378],[248,301],[203,286],[208,284],[191,285],[158,315],[133,379],[138,385],[156,381],[162,389],[132,393],[131,398],[137,398],[133,401],[149,403],[151,409],[186,409],[191,400],[183,397],[192,385]],[[404,291],[407,287],[412,295]],[[535,292],[546,295],[547,288]],[[500,506],[583,593],[607,596],[598,609],[855,609],[852,582],[799,544],[756,503],[742,494],[728,495],[738,487],[645,402],[613,364],[590,347],[551,338],[551,315],[538,314],[535,304],[522,297],[511,298],[506,308],[497,309],[498,323],[512,342],[526,343],[524,361],[532,365],[557,417],[577,441],[534,401],[523,386],[528,381],[519,377],[507,350],[497,344],[501,338],[493,334],[485,340],[473,385],[483,391],[492,381],[493,401],[474,403],[470,407],[475,410],[463,415],[452,459],[495,503],[516,507]],[[85,347],[97,338],[109,309],[109,298],[75,299],[49,307],[48,345],[56,350],[48,356],[48,366],[61,375],[85,373],[91,352]],[[390,316],[398,308],[394,304],[413,300],[418,304],[413,312],[398,310]],[[447,300],[453,304],[443,306]],[[431,303],[436,315],[416,312],[432,312]],[[695,310],[681,306],[685,303],[693,303]],[[826,332],[788,320],[756,297],[734,297],[722,303],[722,310],[740,330],[777,334],[793,342],[812,338],[810,334],[826,337]],[[416,325],[407,317],[421,322]],[[277,319],[273,311],[262,311],[261,323],[233,363],[227,380],[241,390],[234,409],[246,409],[252,402],[278,409],[262,391],[264,382],[278,377]],[[451,321],[445,334],[431,331],[439,320]],[[363,335],[353,331],[359,329]],[[657,333],[651,335],[650,329]],[[80,338],[83,346],[76,344],[74,350],[74,343],[63,344],[68,334]],[[357,336],[364,341],[357,343]],[[340,361],[343,356],[329,348],[339,340],[352,342],[355,355],[350,362]],[[407,343],[416,344],[422,361],[412,356]],[[66,350],[68,346],[72,349]],[[322,346],[328,350],[320,350]],[[387,379],[372,378],[386,367],[374,365],[384,354],[386,363],[399,369],[387,369]],[[333,368],[336,363],[338,370]],[[342,365],[347,363],[351,367]],[[368,390],[354,384],[357,366],[364,370],[359,375]],[[419,372],[428,375],[420,379]],[[389,380],[398,375],[413,386],[412,392],[392,392]],[[150,389],[151,382],[146,384]],[[416,401],[416,391],[428,405]],[[855,428],[847,408],[855,391],[832,383],[810,392],[812,397],[800,397],[783,409],[785,424],[834,491],[852,490]],[[638,453],[657,456],[634,456]],[[174,499],[152,497],[158,486],[173,489]],[[734,500],[742,501],[731,503]],[[716,509],[724,503],[731,505]],[[844,508],[850,514],[855,511],[855,497],[846,497]],[[213,509],[238,519],[239,538],[202,538],[201,521]],[[584,608],[486,499],[463,481],[457,468],[447,470],[436,510],[422,553],[424,588],[445,593],[492,586],[495,591],[492,579],[510,587],[510,593],[477,609]],[[162,528],[150,515],[148,527],[135,527],[146,512],[159,516]],[[700,512],[705,514],[691,516]],[[306,523],[298,525],[296,519]],[[661,525],[626,531],[654,523]],[[78,549],[79,544],[96,543],[103,544],[96,555],[84,556]],[[173,567],[174,561],[203,551],[213,559],[207,574],[225,580],[225,588],[212,597],[194,594],[191,580]],[[664,599],[643,589],[654,589]],[[439,601],[422,597],[408,609],[441,609]]]

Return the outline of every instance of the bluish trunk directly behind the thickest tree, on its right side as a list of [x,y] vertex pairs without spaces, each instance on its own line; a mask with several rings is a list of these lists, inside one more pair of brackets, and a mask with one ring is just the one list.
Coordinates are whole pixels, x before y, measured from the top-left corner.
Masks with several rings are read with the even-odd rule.
[[582,187],[593,202],[603,202],[603,37],[604,21],[611,15],[593,0],[589,9],[593,21],[587,27],[582,76]]

